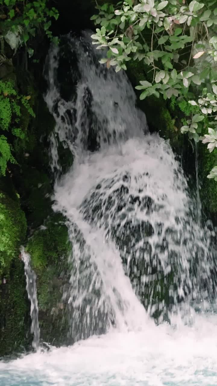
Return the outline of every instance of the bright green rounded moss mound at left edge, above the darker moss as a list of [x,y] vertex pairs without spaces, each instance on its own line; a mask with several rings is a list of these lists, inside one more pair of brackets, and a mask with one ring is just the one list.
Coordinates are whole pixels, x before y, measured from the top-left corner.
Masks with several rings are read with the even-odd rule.
[[0,274],[7,270],[25,239],[27,224],[19,202],[0,191]]

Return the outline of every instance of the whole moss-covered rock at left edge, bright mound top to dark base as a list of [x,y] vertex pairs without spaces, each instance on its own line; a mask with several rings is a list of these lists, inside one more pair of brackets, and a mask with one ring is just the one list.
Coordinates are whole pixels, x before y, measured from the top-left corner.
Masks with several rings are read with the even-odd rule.
[[30,304],[19,247],[27,223],[11,178],[0,179],[0,356],[27,349]]

